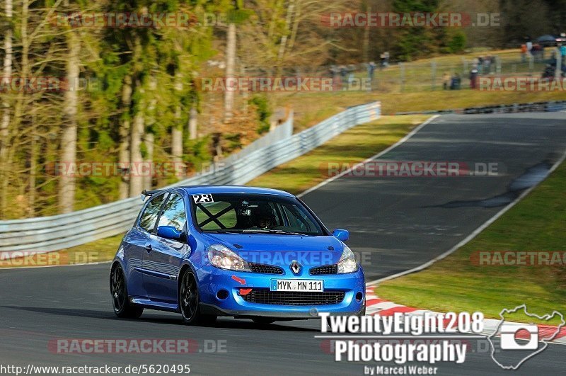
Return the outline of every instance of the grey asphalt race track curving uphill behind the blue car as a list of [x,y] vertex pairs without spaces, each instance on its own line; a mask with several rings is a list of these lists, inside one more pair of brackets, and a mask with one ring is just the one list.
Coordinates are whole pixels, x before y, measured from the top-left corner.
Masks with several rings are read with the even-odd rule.
[[[442,116],[381,159],[497,162],[498,176],[345,176],[304,200],[328,227],[350,230],[349,245],[367,256],[364,270],[373,280],[450,249],[521,192],[524,187],[517,185],[530,181],[526,172],[550,166],[565,149],[565,113]],[[314,338],[320,334],[318,320],[258,326],[219,319],[210,328],[183,326],[178,315],[151,311],[138,320],[117,319],[108,292],[109,268],[105,263],[0,270],[0,363],[190,364],[191,373],[207,375],[360,375],[366,364],[336,363],[328,341]],[[50,346],[57,338],[188,338],[194,352],[64,354]],[[468,342],[474,351],[466,363],[437,364],[439,374],[513,374],[499,368],[485,346]],[[209,353],[214,346],[226,346],[226,351]],[[519,373],[563,373],[565,358],[566,347],[550,345]]]

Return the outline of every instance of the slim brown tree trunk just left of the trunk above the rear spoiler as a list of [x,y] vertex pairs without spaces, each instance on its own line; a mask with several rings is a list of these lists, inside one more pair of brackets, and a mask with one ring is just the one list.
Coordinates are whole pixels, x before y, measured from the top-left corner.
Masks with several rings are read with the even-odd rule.
[[122,107],[125,115],[120,124],[120,148],[118,152],[118,166],[122,169],[122,181],[120,181],[120,200],[129,196],[129,107],[132,104],[132,77],[124,77],[124,86],[122,86]]

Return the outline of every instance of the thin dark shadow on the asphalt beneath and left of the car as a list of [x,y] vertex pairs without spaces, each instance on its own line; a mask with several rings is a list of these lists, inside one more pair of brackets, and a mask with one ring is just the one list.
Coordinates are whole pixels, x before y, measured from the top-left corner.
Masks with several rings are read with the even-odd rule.
[[[156,314],[154,314],[154,312],[146,314],[146,316],[142,316],[139,319],[120,319],[116,317],[112,311],[100,311],[95,309],[20,307],[13,305],[5,305],[0,307],[8,308],[8,309],[19,309],[22,311],[42,313],[42,314],[55,314],[58,316],[90,317],[92,319],[105,319],[105,320],[115,320],[115,321],[139,321],[139,322],[151,322],[153,324],[183,326],[180,317],[179,318],[173,316],[157,317]],[[195,326],[219,328],[219,329],[221,328],[221,329],[255,329],[255,330],[271,330],[271,331],[319,331],[319,329],[315,329],[315,328],[291,326],[292,325],[291,323],[293,322],[304,324],[305,320],[281,321],[281,323],[287,324],[287,325],[281,325],[277,322],[274,324],[256,324],[255,322],[250,321],[248,319],[220,318],[213,325],[195,325]]]

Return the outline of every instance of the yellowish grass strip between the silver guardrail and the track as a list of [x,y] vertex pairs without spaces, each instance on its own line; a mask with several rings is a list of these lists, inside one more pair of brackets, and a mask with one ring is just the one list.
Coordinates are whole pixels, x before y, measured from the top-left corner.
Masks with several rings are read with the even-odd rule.
[[[255,178],[248,186],[300,193],[327,178],[325,171],[320,169],[321,164],[329,161],[350,164],[364,161],[405,137],[427,118],[427,115],[383,116],[374,122],[357,125],[313,151]],[[0,268],[110,261],[120,245],[122,236],[120,234],[44,255],[3,260],[0,261]]]

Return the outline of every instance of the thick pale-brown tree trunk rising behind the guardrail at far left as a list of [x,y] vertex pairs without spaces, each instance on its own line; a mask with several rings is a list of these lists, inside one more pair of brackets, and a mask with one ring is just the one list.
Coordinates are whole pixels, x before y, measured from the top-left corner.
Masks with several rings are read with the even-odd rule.
[[[79,105],[79,53],[81,42],[74,31],[67,33],[67,91],[64,95],[64,128],[61,136],[61,162],[67,166],[76,164],[76,115]],[[67,169],[68,171],[69,169]],[[76,191],[76,178],[71,174],[59,176],[59,212],[73,211]]]

